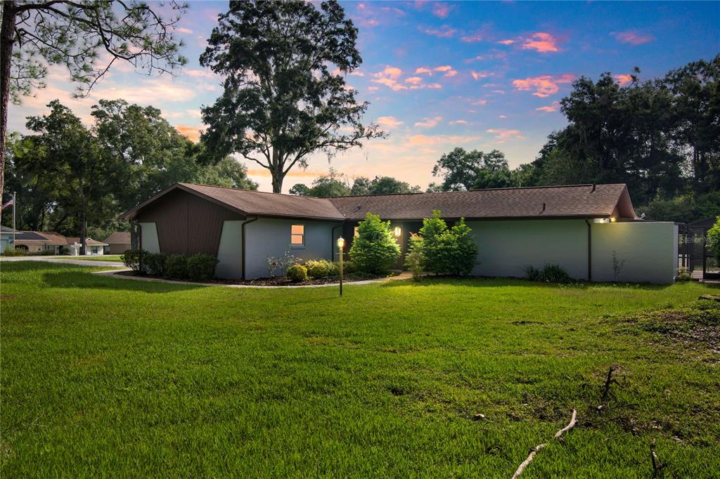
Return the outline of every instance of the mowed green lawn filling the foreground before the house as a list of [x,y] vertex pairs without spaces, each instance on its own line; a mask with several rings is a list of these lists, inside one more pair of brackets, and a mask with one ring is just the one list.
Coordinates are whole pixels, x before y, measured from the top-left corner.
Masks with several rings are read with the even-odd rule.
[[[720,470],[719,352],[633,319],[716,288],[426,280],[339,298],[1,269],[4,478],[508,478],[572,409],[523,478],[647,478],[652,439],[667,476]],[[698,311],[712,332],[718,311]]]

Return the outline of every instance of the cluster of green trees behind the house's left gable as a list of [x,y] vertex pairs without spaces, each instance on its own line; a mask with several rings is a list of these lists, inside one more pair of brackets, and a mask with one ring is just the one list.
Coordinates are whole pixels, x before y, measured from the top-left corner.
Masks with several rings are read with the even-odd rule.
[[[117,217],[177,182],[256,190],[247,168],[230,156],[204,163],[188,140],[153,106],[100,100],[93,124],[55,100],[48,114],[28,117],[30,134],[10,135],[6,190],[17,191],[17,228],[103,239],[127,229]],[[3,211],[4,224],[12,210]],[[88,229],[89,226],[89,229]]]

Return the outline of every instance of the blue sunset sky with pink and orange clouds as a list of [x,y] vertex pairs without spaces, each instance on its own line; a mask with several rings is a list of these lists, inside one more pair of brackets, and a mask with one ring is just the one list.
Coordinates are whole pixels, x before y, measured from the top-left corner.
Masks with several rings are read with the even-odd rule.
[[[148,77],[117,65],[87,99],[72,99],[66,71],[52,68],[48,88],[11,106],[10,129],[58,98],[89,122],[97,99],[152,104],[196,138],[199,110],[220,94],[198,57],[226,2],[191,1],[177,35],[189,64],[177,76]],[[720,2],[343,2],[360,30],[363,64],[347,83],[370,101],[366,121],[390,133],[328,163],[315,155],[286,178],[310,183],[330,165],[352,178],[392,175],[427,186],[453,147],[505,152],[510,165],[533,160],[547,134],[566,124],[557,101],[574,78],[610,71],[618,81],[641,69],[645,80],[720,53]],[[269,175],[248,165],[261,189]]]

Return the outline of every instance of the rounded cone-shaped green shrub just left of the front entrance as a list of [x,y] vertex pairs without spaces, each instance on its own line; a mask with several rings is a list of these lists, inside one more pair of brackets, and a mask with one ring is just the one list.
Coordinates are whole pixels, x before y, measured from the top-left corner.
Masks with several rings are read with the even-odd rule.
[[382,222],[377,214],[368,213],[358,224],[350,257],[361,273],[387,273],[400,257],[400,246],[390,233],[390,222]]

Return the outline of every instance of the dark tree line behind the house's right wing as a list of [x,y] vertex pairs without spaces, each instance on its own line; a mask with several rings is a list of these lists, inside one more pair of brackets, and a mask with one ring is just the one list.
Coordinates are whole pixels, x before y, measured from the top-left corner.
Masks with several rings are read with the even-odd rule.
[[[621,85],[611,73],[585,76],[560,101],[568,125],[549,134],[531,163],[510,169],[503,152],[454,148],[432,169],[427,191],[626,183],[636,211],[649,219],[690,222],[720,215],[720,55],[671,70],[663,78]],[[364,185],[367,178],[357,178]],[[374,181],[380,181],[375,178]],[[407,193],[408,183],[356,188],[331,170],[311,196]],[[410,188],[419,191],[418,187]]]

